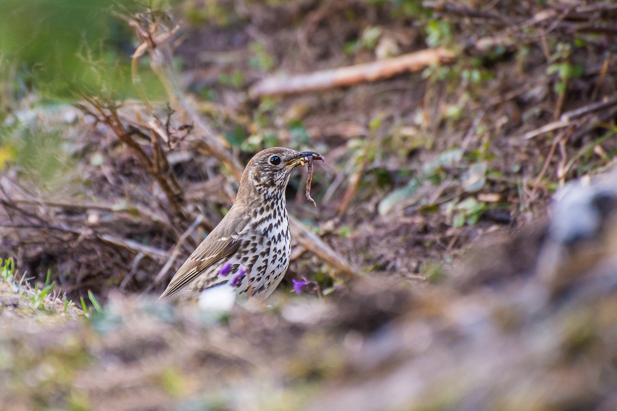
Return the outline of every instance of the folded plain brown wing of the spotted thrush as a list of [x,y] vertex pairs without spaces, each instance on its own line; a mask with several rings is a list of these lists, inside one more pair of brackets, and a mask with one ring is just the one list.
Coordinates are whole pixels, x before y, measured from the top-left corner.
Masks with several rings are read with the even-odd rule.
[[173,295],[196,279],[197,275],[212,264],[238,250],[241,243],[239,234],[246,226],[248,218],[245,216],[234,218],[235,213],[232,211],[230,210],[223,221],[212,230],[208,237],[205,237],[204,241],[193,251],[193,254],[184,261],[159,299]]

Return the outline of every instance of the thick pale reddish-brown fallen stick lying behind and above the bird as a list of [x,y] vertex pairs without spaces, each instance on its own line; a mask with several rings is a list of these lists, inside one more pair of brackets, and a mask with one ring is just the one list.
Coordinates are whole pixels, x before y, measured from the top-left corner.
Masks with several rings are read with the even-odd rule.
[[353,86],[400,73],[420,71],[431,64],[449,63],[455,54],[445,49],[424,49],[391,59],[372,63],[357,64],[332,70],[315,71],[309,74],[284,77],[269,77],[258,81],[249,89],[249,97],[298,94],[304,92]]

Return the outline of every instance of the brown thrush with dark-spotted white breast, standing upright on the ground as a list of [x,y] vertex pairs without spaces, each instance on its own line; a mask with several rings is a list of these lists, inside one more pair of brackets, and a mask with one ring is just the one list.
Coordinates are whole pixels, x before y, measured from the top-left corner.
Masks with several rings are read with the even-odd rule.
[[265,300],[289,267],[291,238],[285,201],[289,177],[297,166],[313,158],[323,161],[317,152],[284,147],[255,154],[242,173],[236,201],[184,261],[159,299],[192,300],[204,290],[231,287],[240,303]]

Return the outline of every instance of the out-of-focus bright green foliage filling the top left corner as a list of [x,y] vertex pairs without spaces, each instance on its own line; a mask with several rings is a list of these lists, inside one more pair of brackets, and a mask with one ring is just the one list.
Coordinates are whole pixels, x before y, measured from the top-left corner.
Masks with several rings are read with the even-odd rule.
[[7,97],[17,100],[32,90],[49,99],[76,92],[125,97],[136,44],[112,10],[136,6],[128,0],[0,2],[0,82]]

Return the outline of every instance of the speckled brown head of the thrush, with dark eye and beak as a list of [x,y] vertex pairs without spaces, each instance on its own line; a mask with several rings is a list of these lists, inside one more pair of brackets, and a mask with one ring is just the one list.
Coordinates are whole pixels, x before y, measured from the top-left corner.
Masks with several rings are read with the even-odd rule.
[[305,158],[321,155],[312,151],[297,152],[284,147],[273,147],[255,154],[244,169],[240,180],[238,198],[246,193],[248,198],[256,190],[259,193],[283,192],[291,172],[304,165]]

